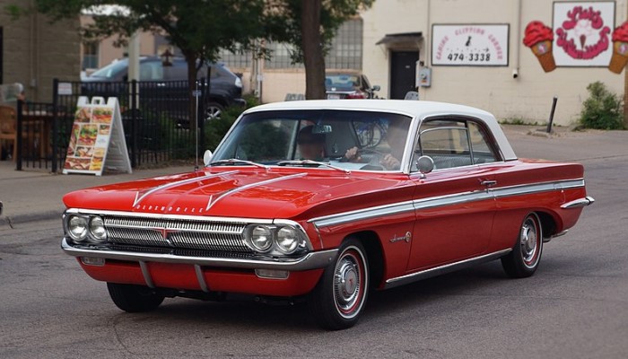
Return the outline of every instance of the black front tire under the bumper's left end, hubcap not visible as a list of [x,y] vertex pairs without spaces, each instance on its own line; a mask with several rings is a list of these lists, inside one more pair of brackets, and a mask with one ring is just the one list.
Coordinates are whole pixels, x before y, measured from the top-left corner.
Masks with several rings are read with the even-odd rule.
[[142,285],[108,283],[111,300],[123,311],[130,313],[153,311],[163,302],[163,296]]

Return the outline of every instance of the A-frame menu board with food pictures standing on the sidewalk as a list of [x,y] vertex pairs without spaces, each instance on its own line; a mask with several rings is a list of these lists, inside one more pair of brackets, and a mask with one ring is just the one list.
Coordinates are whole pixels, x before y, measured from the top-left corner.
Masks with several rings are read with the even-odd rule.
[[[116,163],[108,166],[106,162]],[[118,99],[109,98],[105,103],[103,98],[95,97],[88,103],[86,97],[81,97],[63,172],[100,176],[106,167],[131,172]]]

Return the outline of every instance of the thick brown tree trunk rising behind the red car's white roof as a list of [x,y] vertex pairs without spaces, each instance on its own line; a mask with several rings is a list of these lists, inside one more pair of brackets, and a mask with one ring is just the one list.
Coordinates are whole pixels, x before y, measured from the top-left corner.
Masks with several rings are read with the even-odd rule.
[[301,0],[301,48],[305,66],[305,98],[325,99],[325,57],[320,34],[322,0]]

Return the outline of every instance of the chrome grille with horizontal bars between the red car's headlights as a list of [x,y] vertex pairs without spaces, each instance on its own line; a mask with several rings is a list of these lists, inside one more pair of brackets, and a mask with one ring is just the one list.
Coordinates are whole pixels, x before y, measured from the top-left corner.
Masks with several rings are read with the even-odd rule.
[[[246,223],[104,216],[109,242],[133,246],[251,252]],[[165,237],[165,238],[164,238]]]

